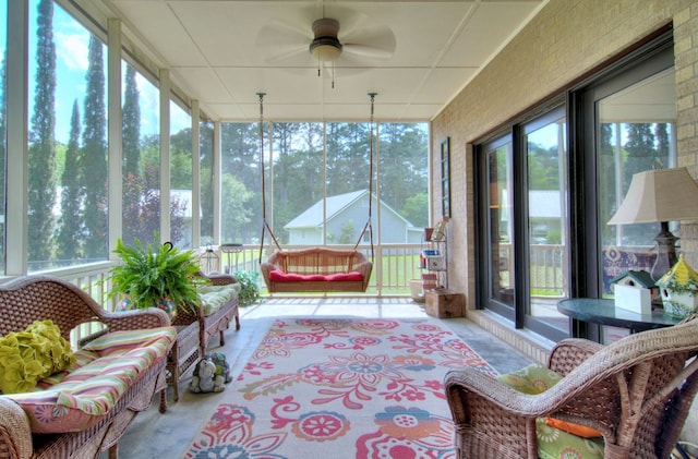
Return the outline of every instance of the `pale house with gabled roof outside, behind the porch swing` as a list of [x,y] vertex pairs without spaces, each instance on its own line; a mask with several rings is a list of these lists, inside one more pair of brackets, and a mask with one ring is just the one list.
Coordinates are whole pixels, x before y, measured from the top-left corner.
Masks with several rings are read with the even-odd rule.
[[[373,221],[371,225],[374,230],[378,228],[376,201],[376,197],[373,196]],[[369,191],[359,190],[329,196],[325,205],[327,209],[327,243],[356,243],[369,219]],[[290,245],[321,245],[324,221],[323,201],[321,200],[284,227],[289,234],[288,243]],[[347,230],[349,226],[351,226],[351,231]],[[381,230],[382,243],[417,243],[420,242],[423,232],[422,228],[416,228],[385,203],[381,203]],[[342,233],[346,234],[346,241],[339,241]],[[377,243],[377,234],[374,234],[373,242]],[[368,233],[363,235],[363,242],[369,242]]]

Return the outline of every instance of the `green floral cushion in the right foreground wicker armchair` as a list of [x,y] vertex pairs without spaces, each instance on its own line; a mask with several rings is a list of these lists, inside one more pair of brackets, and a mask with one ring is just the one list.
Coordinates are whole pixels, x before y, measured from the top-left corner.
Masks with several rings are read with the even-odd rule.
[[[522,394],[537,395],[550,389],[563,377],[552,370],[531,364],[497,377]],[[571,426],[574,432],[576,427]],[[549,425],[546,418],[535,420],[538,456],[541,459],[603,459],[603,437],[582,437]]]

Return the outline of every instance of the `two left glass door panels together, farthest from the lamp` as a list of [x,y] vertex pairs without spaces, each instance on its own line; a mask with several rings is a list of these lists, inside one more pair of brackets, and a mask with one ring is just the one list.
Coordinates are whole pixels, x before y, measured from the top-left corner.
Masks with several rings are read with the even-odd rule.
[[567,123],[562,100],[478,150],[480,279],[486,309],[552,339],[567,334],[557,301],[569,294]]

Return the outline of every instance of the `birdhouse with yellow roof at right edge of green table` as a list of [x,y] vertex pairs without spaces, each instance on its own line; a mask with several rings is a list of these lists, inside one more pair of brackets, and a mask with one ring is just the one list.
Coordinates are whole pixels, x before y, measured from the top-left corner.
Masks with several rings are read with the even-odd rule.
[[688,317],[698,310],[698,273],[686,263],[683,253],[657,285],[667,314]]

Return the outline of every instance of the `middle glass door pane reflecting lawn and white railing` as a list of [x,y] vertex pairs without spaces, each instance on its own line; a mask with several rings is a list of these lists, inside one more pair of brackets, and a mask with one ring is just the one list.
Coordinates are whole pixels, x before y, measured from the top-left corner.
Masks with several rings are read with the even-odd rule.
[[524,126],[528,184],[528,318],[567,333],[557,301],[569,293],[567,140],[564,111]]

